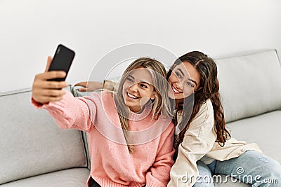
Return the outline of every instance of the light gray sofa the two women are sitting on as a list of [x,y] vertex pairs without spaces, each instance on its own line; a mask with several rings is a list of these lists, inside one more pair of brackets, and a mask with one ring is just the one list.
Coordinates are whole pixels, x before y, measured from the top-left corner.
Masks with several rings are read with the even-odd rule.
[[[281,65],[276,50],[223,57],[216,63],[232,136],[258,143],[281,162]],[[77,87],[67,89],[84,95]],[[46,111],[34,109],[30,95],[30,89],[0,93],[0,186],[86,186],[86,134],[60,130]],[[216,186],[249,185],[228,180]]]

